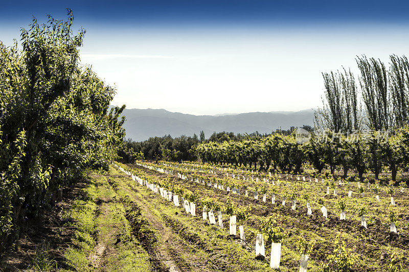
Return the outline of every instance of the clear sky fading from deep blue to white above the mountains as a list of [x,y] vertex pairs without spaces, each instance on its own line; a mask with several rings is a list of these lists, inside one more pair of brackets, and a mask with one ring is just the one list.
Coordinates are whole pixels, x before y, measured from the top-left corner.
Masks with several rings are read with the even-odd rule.
[[112,104],[191,114],[321,106],[321,72],[355,56],[409,55],[405,1],[8,1],[0,40],[32,16],[86,29],[81,61],[117,86]]

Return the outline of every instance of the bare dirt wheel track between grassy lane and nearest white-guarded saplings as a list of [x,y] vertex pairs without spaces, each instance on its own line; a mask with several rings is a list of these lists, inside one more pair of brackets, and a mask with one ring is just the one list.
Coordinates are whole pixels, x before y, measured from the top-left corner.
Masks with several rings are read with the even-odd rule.
[[[111,175],[112,178],[126,178],[129,179],[126,175]],[[109,182],[109,180],[108,180]],[[126,184],[126,181],[124,181]],[[145,203],[151,202],[151,195],[143,195],[141,199],[138,195],[135,195],[133,190],[125,186],[122,186],[121,189],[126,191],[127,194],[131,197],[131,200],[135,202],[145,211],[145,219],[149,222],[150,226],[155,230],[158,236],[161,237],[162,242],[160,245],[156,246],[154,251],[155,258],[158,261],[161,261],[169,269],[170,272],[185,272],[185,271],[211,271],[207,268],[206,263],[200,262],[200,258],[190,258],[189,254],[185,254],[183,244],[181,244],[177,239],[174,238],[174,235],[177,235],[173,232],[170,227],[167,227],[165,221],[156,216]],[[186,258],[186,259],[185,259]]]

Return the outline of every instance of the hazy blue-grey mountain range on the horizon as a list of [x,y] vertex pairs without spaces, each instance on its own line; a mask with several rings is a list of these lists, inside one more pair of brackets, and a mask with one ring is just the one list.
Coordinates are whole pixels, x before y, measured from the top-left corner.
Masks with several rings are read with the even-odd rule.
[[192,115],[179,112],[170,112],[164,109],[125,109],[124,128],[126,138],[143,141],[154,136],[170,134],[172,137],[180,135],[199,136],[205,132],[209,138],[213,132],[236,133],[271,133],[280,128],[289,129],[291,126],[301,127],[313,125],[314,111],[312,109],[291,112],[249,112],[223,113],[217,115]]

